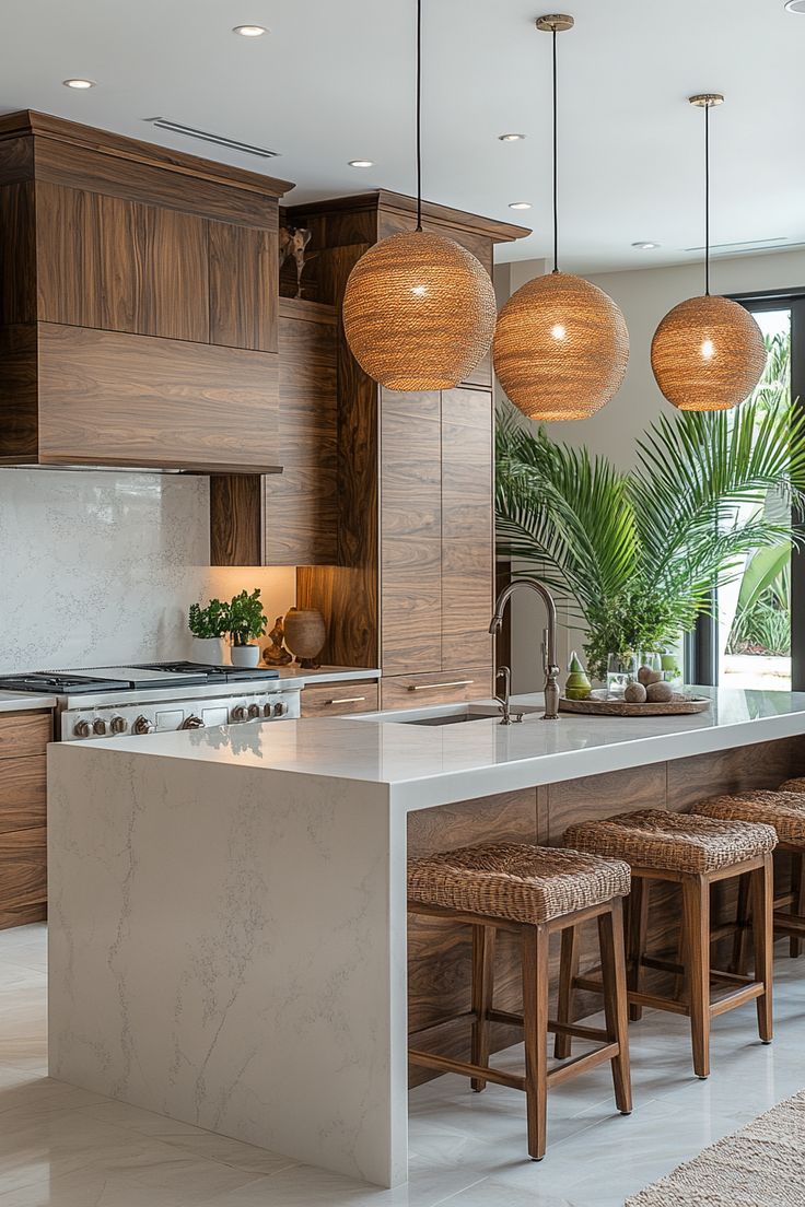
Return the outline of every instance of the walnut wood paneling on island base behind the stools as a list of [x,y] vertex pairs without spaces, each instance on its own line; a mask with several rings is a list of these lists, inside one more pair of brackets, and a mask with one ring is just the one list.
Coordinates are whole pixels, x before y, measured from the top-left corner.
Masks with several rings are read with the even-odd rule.
[[[408,857],[414,859],[433,851],[448,851],[482,841],[561,844],[565,829],[573,822],[603,818],[638,809],[670,809],[686,812],[690,806],[719,792],[747,792],[776,788],[784,779],[805,772],[805,741],[788,737],[774,742],[700,754],[669,763],[654,763],[628,771],[567,780],[523,792],[502,793],[478,800],[443,805],[413,812],[408,818]],[[783,869],[784,870],[784,869]],[[713,896],[713,923],[731,920],[735,911],[735,885],[718,886]],[[658,890],[652,897],[648,950],[676,951],[681,909],[675,892]],[[584,970],[597,958],[595,928],[582,931],[581,967]],[[519,955],[512,947],[513,937],[498,934],[496,956],[496,1001],[498,1009],[520,1010]],[[731,940],[727,940],[730,943]],[[724,950],[714,947],[722,960]],[[472,947],[469,927],[409,915],[408,925],[408,1025],[409,1030],[451,1019],[469,1009],[469,973]],[[555,995],[559,973],[559,944],[552,950],[550,978]],[[647,973],[646,985],[669,991],[669,978]],[[500,986],[500,993],[498,987]],[[601,1009],[601,997],[576,995],[576,1015]],[[492,1051],[518,1043],[521,1034],[496,1025],[492,1027]],[[469,1050],[469,1020],[456,1020],[444,1028],[418,1036],[416,1046],[447,1056],[466,1057]],[[412,1068],[410,1085],[419,1085],[439,1074]]]

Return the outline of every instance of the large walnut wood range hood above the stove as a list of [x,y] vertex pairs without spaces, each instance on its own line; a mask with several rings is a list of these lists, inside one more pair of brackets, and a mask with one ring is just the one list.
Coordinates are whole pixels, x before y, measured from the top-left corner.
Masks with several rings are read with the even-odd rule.
[[285,181],[0,117],[0,466],[281,466]]

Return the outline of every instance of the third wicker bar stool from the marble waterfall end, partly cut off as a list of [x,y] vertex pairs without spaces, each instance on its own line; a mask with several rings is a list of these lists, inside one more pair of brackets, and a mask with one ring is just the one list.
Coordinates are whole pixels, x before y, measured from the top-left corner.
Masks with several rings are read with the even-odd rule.
[[[789,952],[797,957],[805,938],[805,780],[786,780],[777,792],[736,792],[695,806],[695,812],[705,817],[728,821],[764,822],[777,833],[777,851],[791,856],[791,887],[775,897],[774,925],[780,934],[789,938]],[[749,886],[741,879],[737,898],[737,917],[733,968],[743,972],[746,967],[747,935],[751,929]]]

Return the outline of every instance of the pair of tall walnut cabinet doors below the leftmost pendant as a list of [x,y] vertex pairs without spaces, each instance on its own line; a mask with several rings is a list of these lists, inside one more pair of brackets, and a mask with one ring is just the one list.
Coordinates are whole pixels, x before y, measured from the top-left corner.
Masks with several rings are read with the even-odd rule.
[[380,398],[384,676],[491,666],[492,400]]

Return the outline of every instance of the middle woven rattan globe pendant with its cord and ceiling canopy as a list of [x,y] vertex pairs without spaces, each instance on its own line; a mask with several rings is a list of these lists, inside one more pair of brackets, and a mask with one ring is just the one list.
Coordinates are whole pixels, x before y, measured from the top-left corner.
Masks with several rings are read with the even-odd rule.
[[523,285],[501,310],[495,371],[529,419],[587,419],[617,393],[629,360],[623,314],[602,290],[559,272],[556,34],[573,18],[552,13],[537,29],[553,35],[554,270]]

